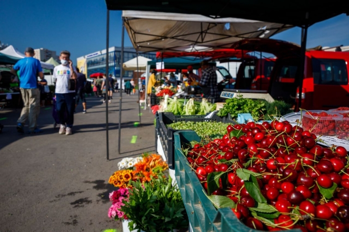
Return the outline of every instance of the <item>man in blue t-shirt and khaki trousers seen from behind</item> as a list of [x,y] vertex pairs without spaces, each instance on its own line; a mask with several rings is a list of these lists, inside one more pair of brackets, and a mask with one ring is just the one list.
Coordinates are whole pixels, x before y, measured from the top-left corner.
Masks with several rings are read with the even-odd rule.
[[25,57],[17,61],[11,69],[11,73],[17,76],[19,70],[20,93],[23,99],[23,108],[17,120],[17,131],[24,132],[24,124],[29,120],[29,134],[39,133],[36,125],[37,117],[40,113],[40,92],[37,88],[37,76],[43,79],[40,61],[33,58],[34,49],[27,47],[24,51]]

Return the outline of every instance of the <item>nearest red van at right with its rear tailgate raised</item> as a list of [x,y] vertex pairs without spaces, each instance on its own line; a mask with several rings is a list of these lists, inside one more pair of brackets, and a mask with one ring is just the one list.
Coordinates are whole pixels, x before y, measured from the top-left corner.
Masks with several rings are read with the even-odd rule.
[[[269,85],[268,92],[274,99],[297,104],[296,94],[300,82],[299,46],[280,40],[246,39],[237,42],[233,48],[276,55],[269,84],[265,81],[263,85],[262,82],[261,88]],[[327,110],[349,106],[349,52],[309,50],[305,53],[304,65],[301,108]],[[246,65],[239,68],[239,72],[245,72],[245,67]],[[235,88],[246,89],[248,84],[238,79],[243,79],[243,76],[237,75]]]

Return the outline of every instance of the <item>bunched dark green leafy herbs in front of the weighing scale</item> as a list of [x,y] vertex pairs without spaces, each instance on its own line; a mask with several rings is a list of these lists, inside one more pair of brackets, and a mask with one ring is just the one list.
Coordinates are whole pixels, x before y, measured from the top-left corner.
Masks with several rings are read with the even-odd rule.
[[[264,101],[265,102],[265,101]],[[223,108],[217,113],[218,116],[224,117],[228,114],[231,117],[236,118],[237,114],[250,113],[254,120],[257,120],[265,113],[265,103],[262,100],[253,100],[249,98],[243,98],[241,95],[226,99]]]

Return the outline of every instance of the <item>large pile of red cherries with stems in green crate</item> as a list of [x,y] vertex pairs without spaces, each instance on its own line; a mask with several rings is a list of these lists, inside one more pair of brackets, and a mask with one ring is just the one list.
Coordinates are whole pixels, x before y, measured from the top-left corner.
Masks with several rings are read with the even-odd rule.
[[[185,154],[206,191],[209,175],[226,174],[212,195],[231,199],[232,212],[252,229],[349,230],[347,151],[316,145],[316,136],[299,126],[287,121],[229,125],[221,139],[201,141]],[[265,204],[247,191],[236,172],[241,169],[254,174]],[[275,212],[257,217],[258,205]]]

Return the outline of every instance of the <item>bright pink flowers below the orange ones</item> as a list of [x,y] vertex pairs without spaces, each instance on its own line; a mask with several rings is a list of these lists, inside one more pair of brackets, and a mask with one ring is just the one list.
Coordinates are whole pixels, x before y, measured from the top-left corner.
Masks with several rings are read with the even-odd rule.
[[128,197],[129,197],[129,192],[128,192],[128,189],[126,188],[115,190],[109,194],[109,200],[110,202],[112,202],[112,205],[108,211],[108,217],[110,219],[127,220],[126,215],[122,211],[119,211],[119,209],[121,209],[121,206],[124,206],[122,201],[123,200],[128,201]]

